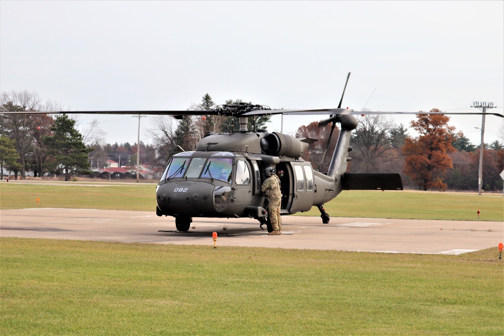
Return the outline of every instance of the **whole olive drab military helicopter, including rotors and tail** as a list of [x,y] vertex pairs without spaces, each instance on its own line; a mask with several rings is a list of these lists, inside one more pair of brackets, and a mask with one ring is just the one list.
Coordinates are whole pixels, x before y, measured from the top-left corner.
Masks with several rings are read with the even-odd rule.
[[[330,221],[324,204],[343,190],[403,190],[399,173],[347,172],[351,161],[349,146],[352,130],[358,123],[355,114],[447,114],[443,112],[355,112],[341,108],[350,73],[347,76],[339,105],[331,109],[284,110],[265,105],[238,103],[219,105],[212,110],[198,111],[77,111],[37,113],[80,114],[142,114],[231,116],[231,124],[238,119],[239,129],[226,132],[209,132],[196,145],[194,151],[184,151],[169,158],[156,186],[156,215],[175,218],[177,231],[190,230],[194,218],[254,218],[260,228],[268,220],[265,196],[261,185],[268,172],[283,170],[281,177],[282,200],[280,214],[291,215],[317,207],[323,224]],[[4,112],[6,113],[6,112]],[[7,112],[23,113],[23,112]],[[31,112],[30,112],[31,113]],[[295,138],[281,132],[256,129],[256,117],[272,114],[321,115],[329,118],[319,126],[332,124],[328,144],[336,123],[340,134],[332,154],[327,173],[314,169],[302,155],[316,139]],[[481,114],[481,113],[451,113]],[[495,114],[502,117],[501,114]],[[253,129],[248,130],[248,118],[253,118]],[[327,146],[326,146],[327,148]],[[326,153],[324,153],[325,158]],[[324,160],[323,158],[323,160]],[[264,230],[264,229],[263,229]]]

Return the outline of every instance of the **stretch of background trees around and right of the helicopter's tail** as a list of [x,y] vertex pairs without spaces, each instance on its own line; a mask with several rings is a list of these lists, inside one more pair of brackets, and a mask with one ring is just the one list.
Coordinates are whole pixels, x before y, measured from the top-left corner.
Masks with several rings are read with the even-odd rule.
[[[432,109],[431,112],[441,112]],[[450,118],[442,114],[418,114],[411,127],[418,137],[411,137],[403,125],[396,125],[384,115],[358,117],[350,146],[352,161],[348,170],[356,172],[401,172],[406,186],[420,190],[477,190],[479,146],[474,146],[462,132],[449,125]],[[301,126],[300,138],[319,141],[310,146],[303,159],[314,168],[327,171],[330,155],[322,161],[323,149],[334,151],[339,129],[335,129],[328,144],[330,125],[318,127],[318,122]],[[503,127],[504,128],[504,127]],[[504,137],[504,129],[502,130]],[[483,149],[483,189],[501,191],[499,174],[504,169],[504,146],[498,141]]]

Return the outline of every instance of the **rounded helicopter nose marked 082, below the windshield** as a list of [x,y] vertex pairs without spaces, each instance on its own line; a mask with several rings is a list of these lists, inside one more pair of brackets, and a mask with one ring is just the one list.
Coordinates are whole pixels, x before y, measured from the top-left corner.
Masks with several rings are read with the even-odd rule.
[[168,181],[158,187],[156,198],[163,215],[208,216],[229,207],[231,187],[204,181]]

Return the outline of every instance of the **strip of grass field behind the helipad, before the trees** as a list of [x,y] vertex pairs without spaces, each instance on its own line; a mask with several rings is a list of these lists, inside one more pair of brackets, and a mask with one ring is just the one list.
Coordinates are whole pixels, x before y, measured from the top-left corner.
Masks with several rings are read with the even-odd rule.
[[[84,208],[155,211],[155,184],[0,183],[0,209]],[[343,191],[325,205],[331,217],[503,221],[500,194]],[[320,216],[316,207],[301,216]]]

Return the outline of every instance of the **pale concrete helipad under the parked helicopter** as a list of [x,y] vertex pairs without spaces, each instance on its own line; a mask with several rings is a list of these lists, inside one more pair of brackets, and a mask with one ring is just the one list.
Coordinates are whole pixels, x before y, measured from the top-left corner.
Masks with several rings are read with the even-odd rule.
[[[86,209],[22,209],[0,211],[0,236],[261,246],[348,251],[444,253],[496,247],[504,240],[502,222],[431,221],[377,218],[283,216],[283,235],[268,236],[253,219],[195,218],[188,232],[177,232],[172,217],[154,212]],[[264,226],[266,228],[266,226]]]

